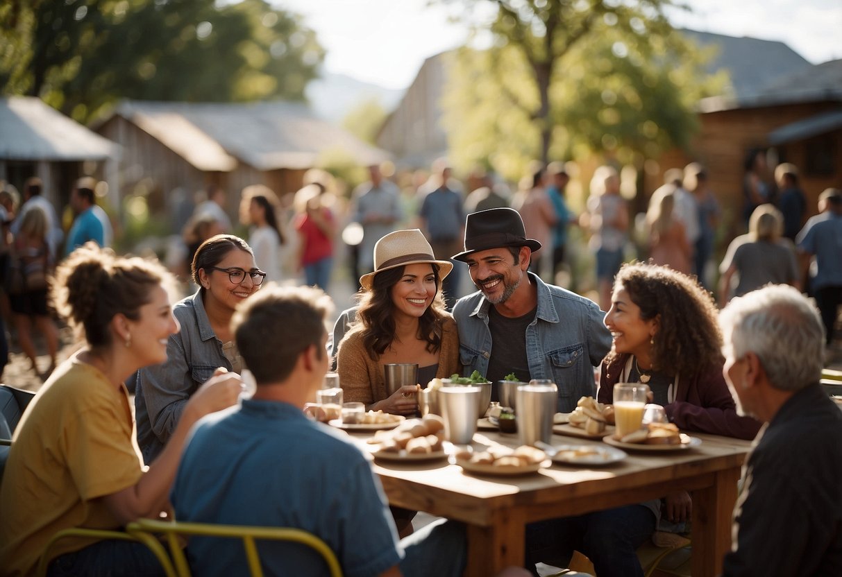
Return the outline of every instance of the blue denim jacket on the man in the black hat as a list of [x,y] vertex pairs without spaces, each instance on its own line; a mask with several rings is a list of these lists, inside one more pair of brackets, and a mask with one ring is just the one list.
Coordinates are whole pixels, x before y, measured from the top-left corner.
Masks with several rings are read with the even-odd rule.
[[[605,313],[593,301],[546,284],[529,273],[538,288],[535,320],[526,328],[526,357],[532,378],[552,378],[558,387],[557,410],[569,413],[583,396],[596,396],[594,367],[611,347]],[[488,329],[491,303],[481,292],[459,299],[453,318],[459,327],[462,372],[488,371],[492,353]]]

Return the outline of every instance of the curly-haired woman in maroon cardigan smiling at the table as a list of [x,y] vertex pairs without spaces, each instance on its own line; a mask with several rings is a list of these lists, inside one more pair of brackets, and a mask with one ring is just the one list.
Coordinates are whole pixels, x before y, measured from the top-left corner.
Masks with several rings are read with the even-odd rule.
[[613,345],[602,363],[600,402],[612,402],[616,383],[645,383],[679,429],[757,434],[757,421],[737,415],[722,377],[717,308],[694,278],[651,264],[622,267],[605,326]]

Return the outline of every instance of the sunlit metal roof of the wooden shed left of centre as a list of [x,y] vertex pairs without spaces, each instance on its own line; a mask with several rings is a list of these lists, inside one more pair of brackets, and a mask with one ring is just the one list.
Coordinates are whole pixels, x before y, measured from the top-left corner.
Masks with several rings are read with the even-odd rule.
[[344,151],[361,165],[390,156],[317,119],[298,103],[125,101],[116,114],[138,124],[201,170],[231,170],[234,159],[261,171],[310,168],[323,153],[333,150]]

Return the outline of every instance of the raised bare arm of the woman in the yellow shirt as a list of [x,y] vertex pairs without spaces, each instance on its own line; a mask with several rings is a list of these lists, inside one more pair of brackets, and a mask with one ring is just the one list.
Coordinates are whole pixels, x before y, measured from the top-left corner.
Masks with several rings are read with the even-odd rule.
[[173,434],[149,470],[131,487],[105,495],[105,506],[121,524],[156,517],[168,507],[168,494],[190,428],[205,415],[237,402],[242,381],[236,373],[217,373],[191,397]]

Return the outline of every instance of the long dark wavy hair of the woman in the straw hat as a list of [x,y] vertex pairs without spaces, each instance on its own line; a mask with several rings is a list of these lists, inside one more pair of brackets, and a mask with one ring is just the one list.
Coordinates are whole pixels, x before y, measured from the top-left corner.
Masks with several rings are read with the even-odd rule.
[[[418,339],[427,341],[427,350],[436,352],[441,347],[441,333],[445,319],[445,301],[441,296],[439,265],[430,263],[435,277],[435,296],[424,315],[418,319]],[[365,291],[357,319],[363,326],[363,345],[373,359],[386,351],[395,339],[395,304],[392,303],[392,287],[401,280],[405,267],[389,268],[377,273],[371,289]]]

